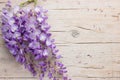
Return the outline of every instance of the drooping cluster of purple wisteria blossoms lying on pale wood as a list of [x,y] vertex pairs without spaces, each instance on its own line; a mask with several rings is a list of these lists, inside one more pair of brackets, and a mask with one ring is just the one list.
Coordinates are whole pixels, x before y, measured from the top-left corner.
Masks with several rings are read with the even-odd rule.
[[70,80],[67,70],[59,60],[61,55],[51,39],[50,25],[47,23],[47,10],[12,7],[8,2],[2,10],[2,35],[7,48],[16,61],[23,64],[33,76],[43,80]]

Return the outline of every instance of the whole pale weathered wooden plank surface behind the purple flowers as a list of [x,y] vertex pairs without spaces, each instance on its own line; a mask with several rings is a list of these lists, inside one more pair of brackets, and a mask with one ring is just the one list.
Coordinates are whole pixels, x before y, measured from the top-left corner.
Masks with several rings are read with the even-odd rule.
[[[7,0],[0,0],[0,10]],[[13,5],[25,0],[11,0]],[[120,0],[46,0],[49,24],[72,80],[120,80]],[[37,80],[0,36],[0,80]],[[48,80],[48,79],[46,79]]]

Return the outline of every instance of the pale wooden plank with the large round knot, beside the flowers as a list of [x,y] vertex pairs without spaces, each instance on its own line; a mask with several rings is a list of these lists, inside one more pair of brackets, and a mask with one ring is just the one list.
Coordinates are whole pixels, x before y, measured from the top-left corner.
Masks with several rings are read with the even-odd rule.
[[[112,2],[117,4],[118,1]],[[44,3],[46,4],[46,2]],[[61,1],[56,4],[60,5],[60,3]],[[103,2],[101,1],[101,3]],[[87,6],[88,2],[86,1],[83,4]],[[54,6],[56,7],[56,5]],[[120,42],[120,8],[104,7],[101,12],[96,9],[87,10],[86,7],[85,9],[81,6],[78,7],[80,7],[78,10],[68,8],[68,10],[51,9],[49,11],[48,22],[52,25],[51,32],[53,32],[53,37],[56,38],[56,43]],[[64,35],[61,35],[62,33]]]

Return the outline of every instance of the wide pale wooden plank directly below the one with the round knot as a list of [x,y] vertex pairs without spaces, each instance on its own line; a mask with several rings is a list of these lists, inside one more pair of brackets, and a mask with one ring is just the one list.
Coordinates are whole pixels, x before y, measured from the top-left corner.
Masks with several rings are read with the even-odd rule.
[[[104,49],[103,49],[104,47]],[[60,46],[63,63],[73,77],[120,77],[119,44],[77,44]],[[1,77],[30,77],[22,66],[17,64],[11,55],[0,48]],[[4,53],[4,54],[3,54]],[[9,67],[8,67],[9,65]]]

